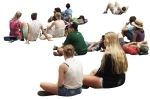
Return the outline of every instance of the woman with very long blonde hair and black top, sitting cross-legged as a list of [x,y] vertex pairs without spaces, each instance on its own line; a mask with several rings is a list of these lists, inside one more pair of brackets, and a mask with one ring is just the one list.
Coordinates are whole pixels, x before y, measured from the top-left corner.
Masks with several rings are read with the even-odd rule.
[[106,46],[99,69],[83,78],[83,88],[113,88],[124,84],[128,69],[126,54],[122,50],[118,36],[114,32],[105,34]]

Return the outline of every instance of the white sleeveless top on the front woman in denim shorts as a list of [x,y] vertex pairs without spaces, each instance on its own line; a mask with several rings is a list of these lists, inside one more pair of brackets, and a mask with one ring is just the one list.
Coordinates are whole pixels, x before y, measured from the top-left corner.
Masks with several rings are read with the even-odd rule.
[[66,59],[64,63],[69,67],[68,71],[65,74],[65,88],[75,89],[81,87],[83,81],[82,64],[74,58]]

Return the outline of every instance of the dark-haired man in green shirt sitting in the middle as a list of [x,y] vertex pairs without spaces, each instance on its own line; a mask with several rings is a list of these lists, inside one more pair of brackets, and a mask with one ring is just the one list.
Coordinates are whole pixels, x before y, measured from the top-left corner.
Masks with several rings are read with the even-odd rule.
[[57,51],[54,51],[55,56],[63,55],[63,46],[72,44],[75,48],[75,55],[85,55],[87,53],[87,45],[85,43],[83,35],[78,32],[78,24],[73,22],[67,26],[67,37],[62,47],[57,47]]

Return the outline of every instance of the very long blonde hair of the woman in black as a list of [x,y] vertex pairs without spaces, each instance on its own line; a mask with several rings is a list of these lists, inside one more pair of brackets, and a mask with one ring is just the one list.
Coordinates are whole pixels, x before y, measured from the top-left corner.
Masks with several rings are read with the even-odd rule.
[[[107,32],[105,34],[105,46],[106,46],[106,51],[105,54],[103,56],[102,62],[105,61],[105,55],[110,54],[111,55],[111,59],[112,59],[112,63],[114,67],[113,68],[113,72],[120,74],[120,73],[124,73],[127,71],[128,68],[128,62],[127,62],[127,57],[124,53],[124,51],[122,50],[120,43],[119,43],[119,39],[116,33],[114,32]],[[105,66],[105,65],[103,65]]]

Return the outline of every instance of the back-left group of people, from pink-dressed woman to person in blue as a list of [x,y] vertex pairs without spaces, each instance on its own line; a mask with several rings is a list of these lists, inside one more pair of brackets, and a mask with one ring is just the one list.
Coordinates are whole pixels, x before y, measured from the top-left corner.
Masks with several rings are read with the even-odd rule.
[[55,8],[54,15],[48,19],[50,24],[45,29],[42,23],[37,20],[37,13],[32,13],[32,21],[25,23],[19,20],[22,13],[17,11],[10,20],[10,34],[4,37],[4,40],[13,42],[18,39],[21,41],[25,39],[27,40],[26,43],[29,43],[29,41],[36,41],[40,37],[41,40],[48,39],[50,41],[52,37],[64,37],[66,25],[72,22],[76,22],[78,25],[87,22],[83,15],[78,18],[72,18],[72,10],[69,3],[66,4],[66,8],[64,12],[61,12],[60,8]]

